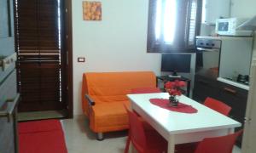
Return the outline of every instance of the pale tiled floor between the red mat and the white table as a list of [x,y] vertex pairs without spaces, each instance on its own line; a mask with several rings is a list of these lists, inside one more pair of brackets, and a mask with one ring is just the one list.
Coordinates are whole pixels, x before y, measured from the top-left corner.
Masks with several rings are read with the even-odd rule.
[[[108,133],[103,141],[96,140],[96,134],[90,131],[88,121],[79,116],[62,121],[66,135],[68,153],[123,153],[126,132]],[[237,147],[233,153],[241,153]]]

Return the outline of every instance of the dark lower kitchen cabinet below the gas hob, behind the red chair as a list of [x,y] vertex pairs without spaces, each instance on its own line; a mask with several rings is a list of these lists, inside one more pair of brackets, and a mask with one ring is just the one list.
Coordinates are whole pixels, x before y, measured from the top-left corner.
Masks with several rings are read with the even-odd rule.
[[[236,127],[236,131],[243,128],[244,117],[247,106],[247,90],[234,87],[224,82],[218,82],[217,77],[207,77],[201,74],[195,75],[195,87],[193,89],[193,99],[203,103],[207,97],[218,99],[230,105],[230,117],[241,122],[241,127]],[[236,144],[241,145],[241,138]]]

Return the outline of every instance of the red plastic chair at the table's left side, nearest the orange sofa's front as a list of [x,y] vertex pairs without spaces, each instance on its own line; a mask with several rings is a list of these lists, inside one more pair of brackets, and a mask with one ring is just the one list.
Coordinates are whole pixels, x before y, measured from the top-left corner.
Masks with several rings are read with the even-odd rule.
[[167,150],[167,142],[154,130],[145,130],[136,113],[129,111],[130,131],[125,146],[125,153],[129,150],[130,142],[139,153],[161,153]]

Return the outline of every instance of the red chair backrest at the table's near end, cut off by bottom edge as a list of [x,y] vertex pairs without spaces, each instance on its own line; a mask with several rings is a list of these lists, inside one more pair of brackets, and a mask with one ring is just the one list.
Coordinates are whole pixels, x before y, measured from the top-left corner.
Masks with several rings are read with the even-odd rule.
[[232,153],[236,138],[241,133],[242,130],[221,137],[203,139],[195,153]]

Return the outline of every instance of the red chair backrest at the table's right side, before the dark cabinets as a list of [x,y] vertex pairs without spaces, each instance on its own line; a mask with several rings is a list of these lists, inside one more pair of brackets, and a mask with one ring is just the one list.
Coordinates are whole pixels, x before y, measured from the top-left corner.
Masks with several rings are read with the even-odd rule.
[[214,111],[218,111],[224,116],[228,116],[231,111],[231,107],[229,105],[225,105],[223,102],[217,99],[212,99],[210,97],[207,97],[207,99],[204,102],[204,105],[206,105]]

